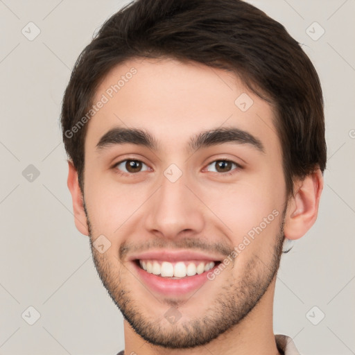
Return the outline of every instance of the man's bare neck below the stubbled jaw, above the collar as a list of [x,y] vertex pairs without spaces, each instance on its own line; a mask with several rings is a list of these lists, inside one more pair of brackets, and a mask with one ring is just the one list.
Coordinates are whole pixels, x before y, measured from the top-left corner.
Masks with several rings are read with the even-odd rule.
[[167,349],[141,338],[124,320],[125,355],[279,355],[272,328],[274,278],[257,306],[239,324],[211,342],[193,349]]

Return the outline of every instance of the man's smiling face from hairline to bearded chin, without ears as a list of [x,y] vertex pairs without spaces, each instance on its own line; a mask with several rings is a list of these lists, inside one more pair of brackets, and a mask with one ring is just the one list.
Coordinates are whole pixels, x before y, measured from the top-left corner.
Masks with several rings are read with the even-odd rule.
[[84,173],[98,274],[148,342],[206,344],[275,280],[286,185],[272,107],[230,72],[175,60],[115,67],[98,101]]

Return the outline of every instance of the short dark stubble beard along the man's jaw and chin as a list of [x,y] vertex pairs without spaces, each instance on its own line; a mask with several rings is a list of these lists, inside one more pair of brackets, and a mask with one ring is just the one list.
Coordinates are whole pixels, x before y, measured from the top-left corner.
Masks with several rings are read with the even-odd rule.
[[[119,261],[121,265],[117,272],[117,264],[111,263],[94,248],[92,226],[88,216],[87,224],[92,256],[98,275],[132,329],[152,345],[159,345],[168,349],[187,349],[206,345],[220,334],[232,329],[259,303],[277,275],[284,241],[285,213],[286,209],[279,224],[279,232],[272,250],[270,263],[267,265],[257,255],[254,255],[245,266],[244,277],[236,283],[231,273],[223,286],[220,287],[220,292],[214,297],[214,300],[211,300],[210,306],[203,311],[202,315],[189,318],[189,315],[184,314],[184,311],[180,309],[181,315],[189,318],[189,320],[184,322],[180,320],[175,324],[167,322],[164,313],[168,311],[168,306],[173,306],[179,311],[179,306],[183,306],[186,301],[181,302],[166,298],[162,301],[162,304],[168,306],[162,307],[164,311],[162,311],[161,317],[156,319],[149,317],[150,306],[143,301],[139,302],[134,293],[125,286],[127,285],[126,280],[132,280],[134,276],[121,261]],[[196,295],[198,297],[198,291]],[[149,297],[153,296],[149,295]],[[200,293],[200,297],[204,297],[204,295]]]

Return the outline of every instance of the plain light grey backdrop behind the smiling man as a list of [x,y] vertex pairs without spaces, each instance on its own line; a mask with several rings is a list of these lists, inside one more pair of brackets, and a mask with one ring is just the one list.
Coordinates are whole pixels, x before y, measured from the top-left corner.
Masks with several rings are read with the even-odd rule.
[[[355,354],[355,1],[250,2],[302,44],[326,113],[319,216],[282,259],[275,333],[302,354]],[[76,58],[124,3],[0,0],[0,354],[124,348],[121,313],[73,223],[58,121]]]

